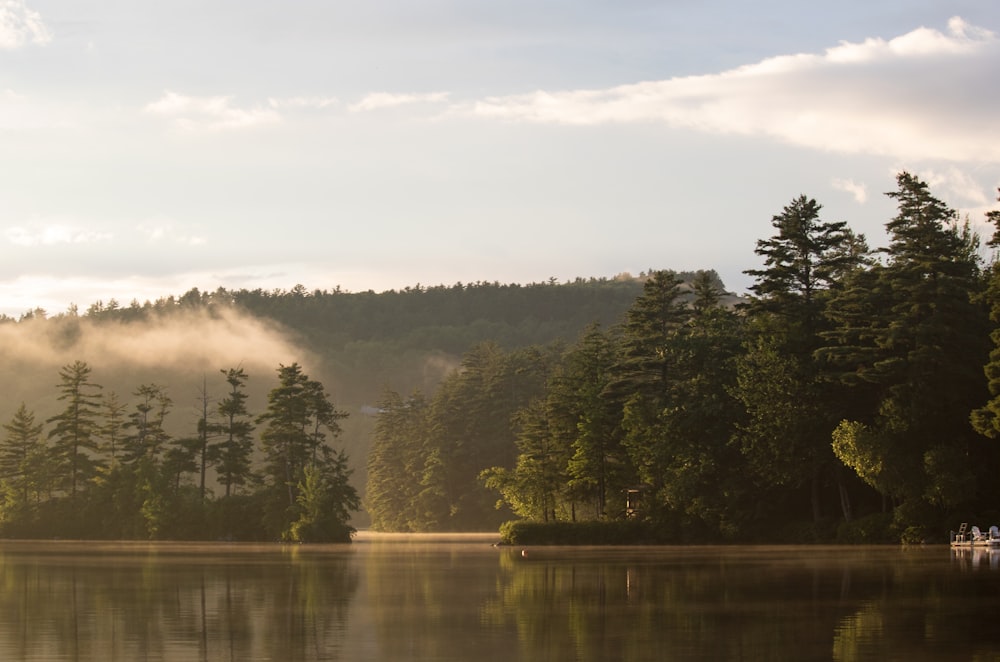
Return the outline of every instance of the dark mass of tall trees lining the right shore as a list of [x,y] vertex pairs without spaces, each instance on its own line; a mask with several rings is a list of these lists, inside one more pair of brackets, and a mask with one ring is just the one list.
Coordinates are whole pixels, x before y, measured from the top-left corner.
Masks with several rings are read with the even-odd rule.
[[886,542],[996,517],[1000,267],[925,182],[896,184],[885,248],[799,196],[740,305],[710,272],[655,271],[572,344],[482,343],[432,397],[387,389],[373,526],[642,518],[677,542]]

